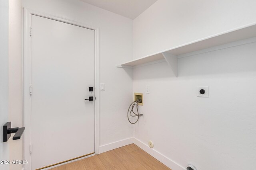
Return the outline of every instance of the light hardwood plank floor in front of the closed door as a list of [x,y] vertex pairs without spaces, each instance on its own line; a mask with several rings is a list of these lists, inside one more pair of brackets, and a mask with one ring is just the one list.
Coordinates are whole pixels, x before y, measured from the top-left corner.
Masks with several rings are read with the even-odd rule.
[[150,154],[131,144],[51,170],[171,170]]

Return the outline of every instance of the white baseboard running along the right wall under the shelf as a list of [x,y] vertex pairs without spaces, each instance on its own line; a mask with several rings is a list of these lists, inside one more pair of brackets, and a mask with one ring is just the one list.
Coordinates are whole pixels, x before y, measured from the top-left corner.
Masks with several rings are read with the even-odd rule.
[[146,145],[145,143],[142,143],[142,141],[136,138],[133,138],[133,143],[138,147],[140,147],[141,149],[143,149],[144,151],[146,151],[148,154],[150,154],[154,158],[156,158],[157,160],[159,160],[160,162],[162,162],[163,164],[165,164],[166,166],[168,166],[169,168],[171,168],[172,170],[185,170],[185,168],[183,168],[182,166],[180,166],[170,158],[167,158],[166,156],[156,151],[155,149],[151,149],[150,147],[148,147],[148,145]]

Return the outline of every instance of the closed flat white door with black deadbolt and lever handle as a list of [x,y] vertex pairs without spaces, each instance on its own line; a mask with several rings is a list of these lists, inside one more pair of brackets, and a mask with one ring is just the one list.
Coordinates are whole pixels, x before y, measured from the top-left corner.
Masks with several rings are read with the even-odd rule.
[[94,30],[31,16],[31,166],[94,153]]

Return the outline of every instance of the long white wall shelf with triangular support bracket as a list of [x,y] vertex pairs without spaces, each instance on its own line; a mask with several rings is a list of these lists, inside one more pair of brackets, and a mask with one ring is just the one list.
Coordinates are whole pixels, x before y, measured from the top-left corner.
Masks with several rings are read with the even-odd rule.
[[208,49],[210,47],[224,45],[226,43],[232,43],[234,41],[239,41],[239,40],[248,39],[252,37],[256,37],[256,23],[245,25],[243,27],[238,27],[236,29],[231,29],[222,33],[212,35],[210,37],[205,37],[203,39],[192,41],[190,43],[185,43],[183,45],[172,47],[170,49],[160,51],[159,53],[134,59],[132,61],[118,64],[116,66],[122,67],[122,68],[133,68],[134,66],[137,66],[140,64],[145,64],[145,63],[165,59],[177,77],[178,76],[178,70],[177,70],[178,58],[177,57],[179,55],[183,55],[193,51],[199,51],[202,49]]

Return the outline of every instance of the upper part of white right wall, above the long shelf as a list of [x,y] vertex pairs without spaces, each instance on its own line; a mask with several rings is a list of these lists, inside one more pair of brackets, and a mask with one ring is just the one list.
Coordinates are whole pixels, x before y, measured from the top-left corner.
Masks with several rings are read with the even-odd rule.
[[255,6],[255,0],[158,0],[134,19],[134,59],[253,23]]

